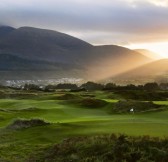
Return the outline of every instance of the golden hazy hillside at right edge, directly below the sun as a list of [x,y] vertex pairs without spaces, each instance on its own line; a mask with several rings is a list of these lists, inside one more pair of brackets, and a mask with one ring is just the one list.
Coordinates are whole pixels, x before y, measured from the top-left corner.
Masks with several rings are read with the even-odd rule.
[[114,80],[130,81],[168,81],[168,59],[157,60],[127,71],[115,77]]

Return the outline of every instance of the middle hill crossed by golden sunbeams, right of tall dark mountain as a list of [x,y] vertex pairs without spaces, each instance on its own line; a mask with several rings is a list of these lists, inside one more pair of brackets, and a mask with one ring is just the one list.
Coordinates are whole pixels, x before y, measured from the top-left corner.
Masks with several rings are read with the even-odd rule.
[[95,46],[91,53],[89,77],[96,79],[115,76],[151,61],[138,52],[116,45]]

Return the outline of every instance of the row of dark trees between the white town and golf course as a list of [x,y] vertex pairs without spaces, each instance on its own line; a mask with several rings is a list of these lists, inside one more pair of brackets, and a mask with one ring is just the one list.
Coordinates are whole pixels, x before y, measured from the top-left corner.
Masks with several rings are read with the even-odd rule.
[[72,92],[78,91],[95,91],[95,90],[104,90],[104,91],[111,91],[111,90],[147,90],[147,91],[154,91],[154,90],[168,90],[168,83],[156,83],[150,82],[144,85],[117,85],[115,83],[95,83],[95,82],[87,82],[80,86],[71,83],[60,83],[57,85],[47,85],[47,86],[40,86],[36,84],[25,84],[22,89],[24,90],[43,90],[43,91],[54,91],[59,89],[69,89]]

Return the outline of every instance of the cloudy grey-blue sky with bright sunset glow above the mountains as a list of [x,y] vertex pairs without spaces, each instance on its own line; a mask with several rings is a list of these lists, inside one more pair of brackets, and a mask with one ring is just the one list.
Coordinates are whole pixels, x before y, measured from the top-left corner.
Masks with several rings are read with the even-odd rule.
[[168,58],[168,0],[0,0],[0,25],[52,29]]

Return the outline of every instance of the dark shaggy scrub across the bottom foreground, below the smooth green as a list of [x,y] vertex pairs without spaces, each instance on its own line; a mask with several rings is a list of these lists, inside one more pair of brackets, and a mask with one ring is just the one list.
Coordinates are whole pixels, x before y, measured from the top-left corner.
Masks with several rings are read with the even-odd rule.
[[168,139],[112,134],[64,140],[31,162],[167,162]]

